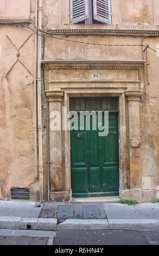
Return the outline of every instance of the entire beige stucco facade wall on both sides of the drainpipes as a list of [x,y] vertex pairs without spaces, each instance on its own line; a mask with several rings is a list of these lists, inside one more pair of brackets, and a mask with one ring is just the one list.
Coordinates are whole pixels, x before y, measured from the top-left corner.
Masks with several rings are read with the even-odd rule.
[[[43,0],[43,25],[48,29],[62,29],[63,39],[98,44],[148,44],[158,50],[158,36],[142,37],[129,35],[129,31],[158,31],[158,0],[112,0],[112,25],[69,25],[68,0]],[[0,1],[0,22],[5,20],[28,20],[35,16],[35,1]],[[66,24],[66,25],[65,25]],[[33,26],[31,28],[34,28]],[[79,35],[65,30],[72,29],[125,29],[125,36]],[[128,32],[126,32],[128,30]],[[51,31],[51,30],[50,30]],[[153,33],[154,33],[153,32]],[[30,187],[31,198],[38,199],[39,183],[35,181],[34,166],[34,40],[33,31],[15,26],[0,27],[0,191],[1,199],[10,197],[11,187]],[[20,54],[18,48],[20,48]],[[141,117],[141,175],[150,177],[151,188],[159,185],[159,57],[141,46],[97,46],[60,39],[46,39],[45,60],[87,59],[87,60],[147,60],[145,81],[139,89],[144,95],[140,104]],[[148,65],[147,65],[148,64]],[[148,69],[147,69],[148,68]],[[100,70],[101,71],[101,70]],[[64,72],[61,71],[65,78]],[[121,78],[120,72],[117,73]],[[132,74],[132,73],[131,73]],[[102,74],[101,74],[102,75]],[[111,72],[105,71],[110,76]],[[68,78],[68,77],[67,77]],[[87,78],[87,77],[85,77]],[[131,77],[126,77],[131,78]],[[47,81],[46,81],[47,82]],[[145,88],[147,97],[145,96]],[[145,101],[145,102],[144,102]],[[42,99],[43,123],[46,124],[46,100]],[[46,130],[43,131],[44,196],[47,196],[46,172]],[[64,182],[64,181],[62,181]],[[159,190],[159,189],[158,189]],[[155,194],[143,191],[143,200],[151,200]],[[145,194],[148,196],[145,196]],[[129,194],[128,197],[132,194]]]

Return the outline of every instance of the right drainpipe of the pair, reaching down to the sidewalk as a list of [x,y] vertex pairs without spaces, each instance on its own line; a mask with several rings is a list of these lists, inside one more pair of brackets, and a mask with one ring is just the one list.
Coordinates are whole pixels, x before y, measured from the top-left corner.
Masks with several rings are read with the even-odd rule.
[[[42,29],[42,0],[39,0],[38,7],[38,27]],[[37,112],[38,112],[38,135],[39,135],[39,180],[40,180],[40,202],[43,201],[43,160],[42,160],[42,111],[41,111],[41,53],[42,36],[41,31],[38,35],[38,53],[37,53]]]

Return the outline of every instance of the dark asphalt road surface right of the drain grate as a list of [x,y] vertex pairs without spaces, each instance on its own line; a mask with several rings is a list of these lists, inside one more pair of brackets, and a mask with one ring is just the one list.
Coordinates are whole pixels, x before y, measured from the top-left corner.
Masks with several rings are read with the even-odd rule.
[[159,230],[59,230],[53,245],[159,245]]

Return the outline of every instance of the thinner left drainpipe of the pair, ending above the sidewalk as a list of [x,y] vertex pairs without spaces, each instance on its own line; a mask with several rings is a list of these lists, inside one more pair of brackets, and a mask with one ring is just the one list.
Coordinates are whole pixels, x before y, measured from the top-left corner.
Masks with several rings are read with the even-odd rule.
[[[37,0],[35,0],[35,26],[37,27]],[[36,29],[37,33],[37,29]],[[35,150],[35,179],[37,180],[37,107],[36,107],[36,75],[37,75],[37,34],[35,34],[34,50],[34,150]]]

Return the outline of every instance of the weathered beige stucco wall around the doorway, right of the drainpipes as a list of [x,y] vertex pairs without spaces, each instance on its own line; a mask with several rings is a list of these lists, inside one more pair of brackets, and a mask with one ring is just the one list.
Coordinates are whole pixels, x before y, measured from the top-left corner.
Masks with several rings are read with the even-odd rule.
[[[159,57],[150,49],[143,52],[144,47],[141,46],[98,46],[71,42],[69,40],[110,45],[142,44],[149,45],[157,50],[158,36],[134,36],[132,31],[154,31],[152,34],[155,33],[155,31],[158,31],[158,2],[156,0],[112,0],[112,25],[69,25],[69,19],[67,16],[68,1],[65,13],[62,12],[63,1],[58,1],[58,3],[57,1],[44,2],[44,24],[48,29],[50,29],[50,31],[52,31],[51,29],[55,29],[56,31],[59,30],[59,33],[62,31],[62,35],[58,35],[58,33],[55,35],[56,39],[46,39],[44,54],[45,60],[119,60],[121,63],[125,60],[145,61],[142,78],[139,77],[139,80],[142,81],[139,89],[143,90],[142,100],[139,104],[141,125],[141,155],[139,154],[141,156],[141,162],[139,164],[141,166],[141,180],[137,181],[138,177],[136,176],[136,187],[130,187],[128,191],[125,190],[124,194],[121,195],[127,198],[141,200],[142,202],[151,201],[153,198],[155,199],[156,193],[158,193],[159,184],[159,133],[157,128],[159,125],[159,90],[157,75]],[[51,2],[52,4],[53,2],[56,3],[54,5],[54,19],[53,16],[50,15]],[[61,16],[59,15],[59,9],[61,10]],[[65,22],[63,20],[65,20]],[[76,29],[77,31],[75,31]],[[83,34],[80,32],[82,29],[84,29]],[[125,29],[126,35],[124,36],[123,33],[123,35],[120,36],[110,36],[108,33],[107,35],[103,35],[102,32],[101,35],[95,35],[93,32],[92,35],[88,35],[88,33],[87,35],[84,35],[86,32],[85,29],[87,29],[87,32],[90,31],[90,34],[91,29],[112,29],[112,32],[113,29],[115,29],[116,33],[117,29]],[[71,32],[73,30],[74,32]],[[128,35],[129,31],[131,31],[130,33],[132,35]],[[58,37],[66,39],[66,41],[57,39]],[[100,78],[102,77],[101,72],[102,71],[99,72]],[[104,74],[107,74],[108,79],[111,79],[111,72],[107,70],[104,72]],[[48,78],[54,81],[56,80],[55,77],[59,74],[59,81],[60,79],[62,81],[66,79],[69,80],[70,77],[66,75],[66,73],[67,71],[65,70],[50,71]],[[74,71],[73,74],[74,77],[72,77],[71,80],[76,80],[76,75],[79,75],[79,80],[87,80],[89,76],[85,71],[82,73],[82,77],[80,77],[80,71]],[[122,79],[122,75],[119,74],[118,78]],[[90,79],[90,77],[88,79]],[[65,83],[63,84],[63,87],[65,87]],[[87,83],[87,86],[91,86],[91,83]],[[102,86],[103,85],[101,84],[101,87]],[[78,87],[78,84],[75,83],[74,87]],[[109,87],[111,86],[109,85]],[[52,83],[51,90],[55,89],[58,89],[57,84]],[[129,145],[127,145],[127,147],[129,148]],[[128,179],[131,179],[131,177],[128,177]],[[149,188],[145,188],[147,187],[145,186],[145,181],[147,181],[148,187],[150,186]],[[56,188],[54,188],[54,190],[56,190]],[[140,196],[138,196],[139,190]]]

